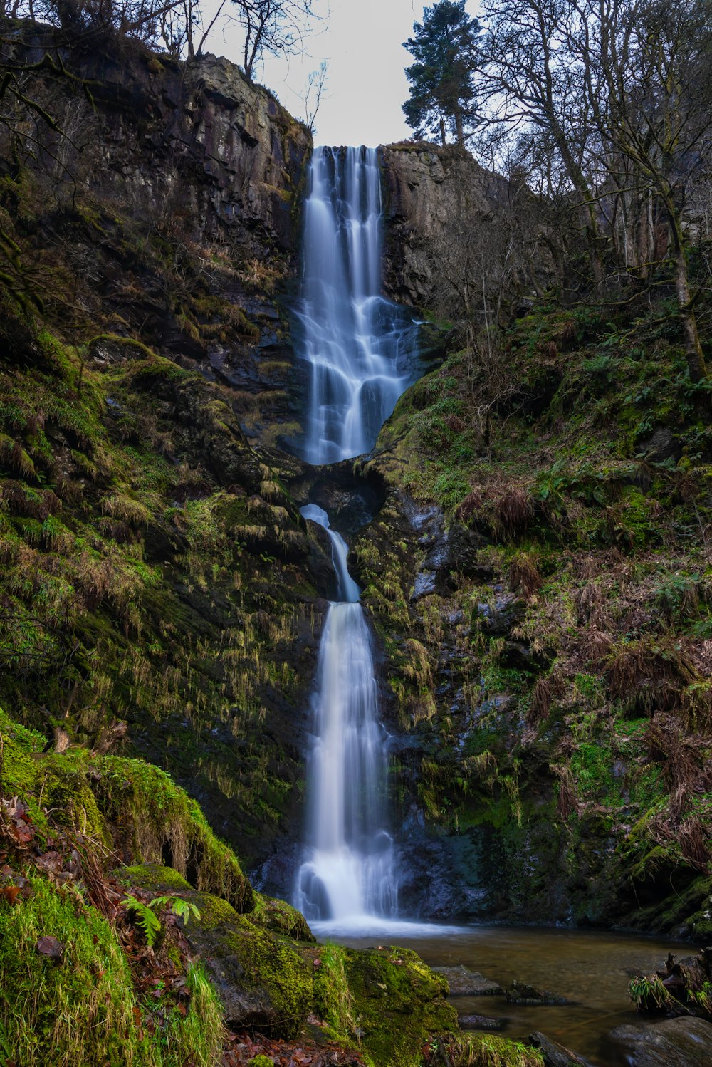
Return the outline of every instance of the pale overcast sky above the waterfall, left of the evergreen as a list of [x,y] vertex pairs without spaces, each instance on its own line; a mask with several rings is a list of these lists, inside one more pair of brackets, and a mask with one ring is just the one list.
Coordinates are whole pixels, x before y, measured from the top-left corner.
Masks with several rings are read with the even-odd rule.
[[[317,116],[317,144],[375,146],[410,137],[401,106],[408,97],[404,67],[412,57],[403,42],[411,36],[412,23],[422,21],[422,0],[315,0],[314,10],[324,17],[313,23],[306,54],[289,61],[266,57],[263,70],[255,73],[256,80],[303,118],[300,96],[307,77],[326,60],[328,76]],[[470,0],[468,10],[476,15],[478,4]],[[213,31],[206,50],[241,64],[239,29]]]

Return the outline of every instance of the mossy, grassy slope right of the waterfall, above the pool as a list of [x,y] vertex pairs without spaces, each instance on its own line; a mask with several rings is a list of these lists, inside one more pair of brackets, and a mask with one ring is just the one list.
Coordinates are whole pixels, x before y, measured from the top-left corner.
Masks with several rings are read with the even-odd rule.
[[409,854],[440,878],[405,893],[707,937],[708,384],[663,306],[544,307],[490,341],[401,399],[352,553]]

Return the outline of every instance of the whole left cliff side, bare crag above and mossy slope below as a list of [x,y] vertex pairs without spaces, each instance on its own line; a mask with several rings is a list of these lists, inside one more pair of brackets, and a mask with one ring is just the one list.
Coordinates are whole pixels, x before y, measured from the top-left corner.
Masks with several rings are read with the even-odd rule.
[[330,583],[289,461],[250,445],[300,410],[284,301],[310,137],[225,60],[23,33],[27,60],[69,77],[30,83],[66,136],[20,113],[26,153],[0,116],[18,250],[1,265],[0,698],[60,749],[168,768],[263,860],[298,832]]

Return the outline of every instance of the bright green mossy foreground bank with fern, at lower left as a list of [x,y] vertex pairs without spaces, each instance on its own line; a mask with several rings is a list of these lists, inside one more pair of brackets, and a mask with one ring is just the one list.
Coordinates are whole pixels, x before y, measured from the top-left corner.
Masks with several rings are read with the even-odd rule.
[[242,1064],[257,1031],[328,1047],[329,1063],[416,1067],[456,1029],[446,983],[414,953],[315,945],[298,912],[254,893],[167,775],[41,745],[0,713],[9,1062]]

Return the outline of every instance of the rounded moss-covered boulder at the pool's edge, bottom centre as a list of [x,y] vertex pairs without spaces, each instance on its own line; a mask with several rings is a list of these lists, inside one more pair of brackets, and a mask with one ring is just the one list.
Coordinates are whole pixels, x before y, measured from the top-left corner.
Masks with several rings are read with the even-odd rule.
[[375,1067],[416,1067],[430,1037],[455,1031],[457,1015],[447,996],[444,978],[406,949],[328,945],[314,972],[317,1012],[335,1037],[353,1045],[360,1036]]

